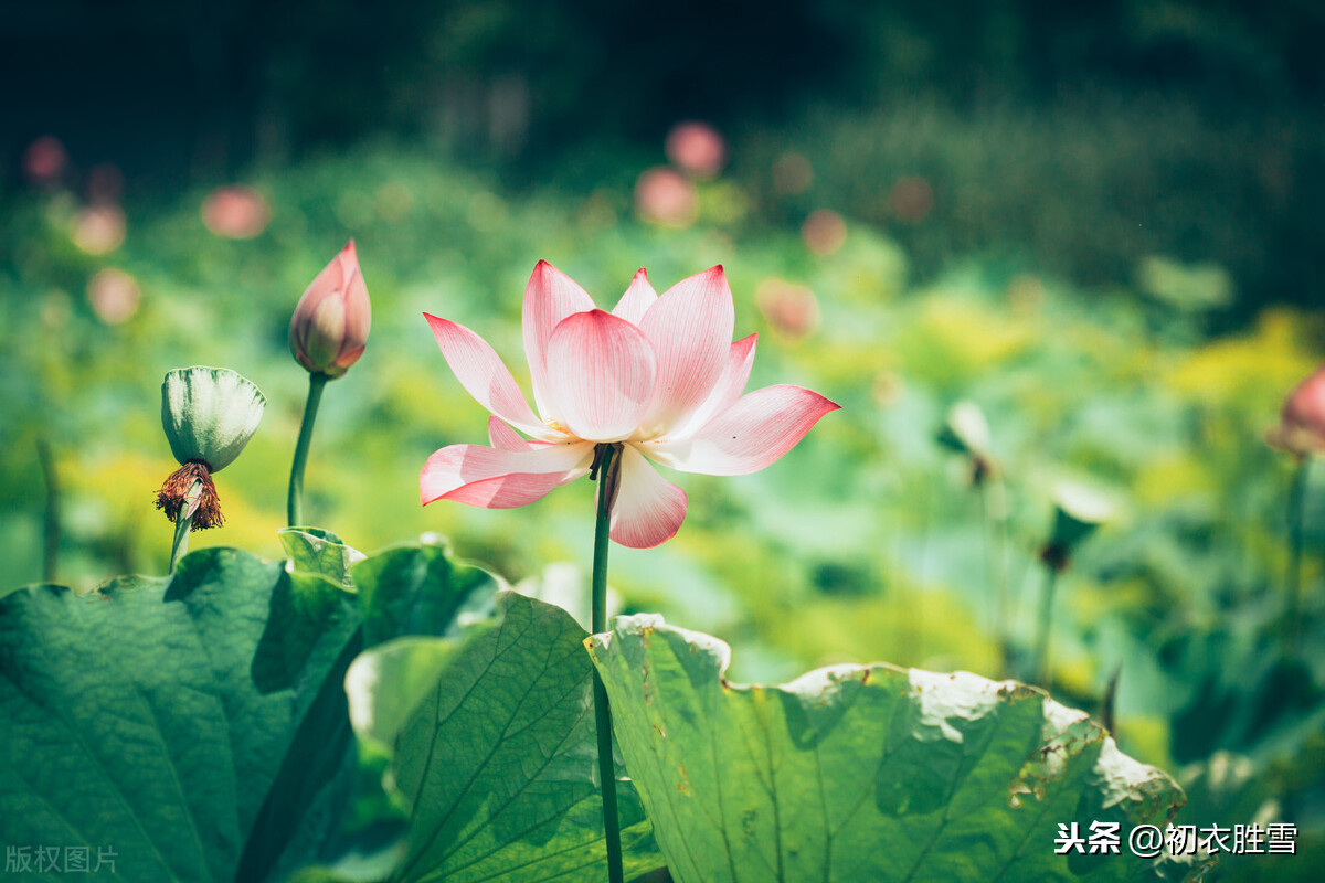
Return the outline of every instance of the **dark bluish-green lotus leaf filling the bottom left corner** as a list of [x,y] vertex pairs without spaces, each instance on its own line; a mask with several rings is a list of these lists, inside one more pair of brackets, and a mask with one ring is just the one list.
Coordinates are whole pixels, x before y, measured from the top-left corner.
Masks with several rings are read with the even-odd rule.
[[[0,600],[0,841],[115,853],[118,879],[229,880],[292,736],[352,631],[352,598],[298,594],[281,563],[187,556]],[[322,639],[258,678],[288,614]],[[266,635],[266,638],[265,638]],[[260,680],[266,683],[260,683]]]

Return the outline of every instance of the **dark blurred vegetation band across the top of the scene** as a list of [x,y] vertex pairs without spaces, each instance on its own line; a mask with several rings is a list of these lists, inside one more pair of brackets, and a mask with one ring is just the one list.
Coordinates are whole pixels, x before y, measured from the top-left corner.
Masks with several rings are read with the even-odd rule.
[[[1306,0],[20,4],[0,156],[53,132],[171,193],[387,138],[586,192],[698,118],[747,188],[810,160],[761,218],[848,209],[926,275],[973,252],[1090,285],[1215,261],[1246,319],[1325,294],[1322,41]],[[916,177],[931,209],[896,189]]]

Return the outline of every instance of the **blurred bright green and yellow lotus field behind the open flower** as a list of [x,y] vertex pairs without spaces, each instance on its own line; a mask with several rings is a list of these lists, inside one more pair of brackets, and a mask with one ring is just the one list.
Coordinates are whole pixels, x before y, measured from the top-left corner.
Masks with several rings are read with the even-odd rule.
[[[998,261],[954,262],[916,285],[906,252],[877,228],[849,221],[840,244],[811,249],[796,225],[743,210],[766,193],[731,179],[697,183],[698,220],[684,228],[637,220],[628,183],[580,195],[549,185],[515,199],[481,173],[388,143],[258,171],[248,183],[270,207],[265,232],[249,240],[208,232],[204,188],[130,199],[123,244],[90,250],[73,193],[8,200],[7,585],[41,577],[38,440],[54,451],[61,580],[87,589],[114,573],[164,569],[171,527],[151,499],[174,461],[159,387],[166,371],[189,364],[233,368],[269,402],[244,455],[217,477],[227,524],[196,534],[192,548],[282,556],[277,530],[307,384],[288,352],[289,316],[351,234],[372,334],[323,397],[309,520],[364,551],[445,534],[460,555],[513,581],[554,561],[587,567],[587,482],[519,510],[419,506],[428,454],[484,442],[486,417],[420,314],[474,328],[526,381],[519,308],[537,259],[600,306],[637,266],[661,290],[721,262],[737,335],[761,334],[751,387],[807,385],[843,410],[763,473],[680,477],[690,498],[680,535],[659,549],[613,548],[624,610],[657,610],[739,645],[738,679],[874,659],[1015,674],[1034,631],[1053,487],[1086,479],[1120,500],[1120,512],[1061,577],[1056,691],[1098,707],[1121,666],[1113,714],[1125,751],[1190,764],[1190,781],[1206,781],[1208,759],[1232,752],[1256,770],[1243,781],[1265,789],[1246,798],[1255,812],[1265,801],[1291,808],[1304,826],[1300,849],[1321,850],[1325,470],[1309,487],[1305,651],[1285,659],[1292,465],[1261,443],[1283,395],[1321,359],[1320,315],[1272,308],[1208,336],[1227,278],[1173,258],[1138,266],[1136,289],[1104,294]],[[107,269],[139,294],[129,315],[97,294]],[[783,282],[814,293],[818,324],[788,324],[757,295]],[[979,487],[970,465],[935,441],[959,400],[977,402],[991,428],[999,478]],[[1236,794],[1210,800],[1242,805]]]

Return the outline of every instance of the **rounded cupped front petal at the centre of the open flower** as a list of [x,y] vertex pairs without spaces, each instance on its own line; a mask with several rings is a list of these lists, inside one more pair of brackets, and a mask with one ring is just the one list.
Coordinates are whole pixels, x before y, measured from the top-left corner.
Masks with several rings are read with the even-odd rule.
[[547,393],[579,438],[629,437],[648,413],[655,376],[644,334],[603,310],[567,316],[547,342]]

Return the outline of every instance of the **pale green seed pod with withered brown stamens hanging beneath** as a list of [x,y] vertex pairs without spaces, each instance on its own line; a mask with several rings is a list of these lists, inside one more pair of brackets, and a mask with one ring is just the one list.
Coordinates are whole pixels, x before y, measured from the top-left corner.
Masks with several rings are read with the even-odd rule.
[[[162,428],[180,467],[156,494],[156,508],[176,520],[192,515],[192,530],[224,523],[212,473],[240,455],[262,420],[266,398],[229,368],[176,368],[162,383]],[[201,492],[191,496],[195,482]]]

